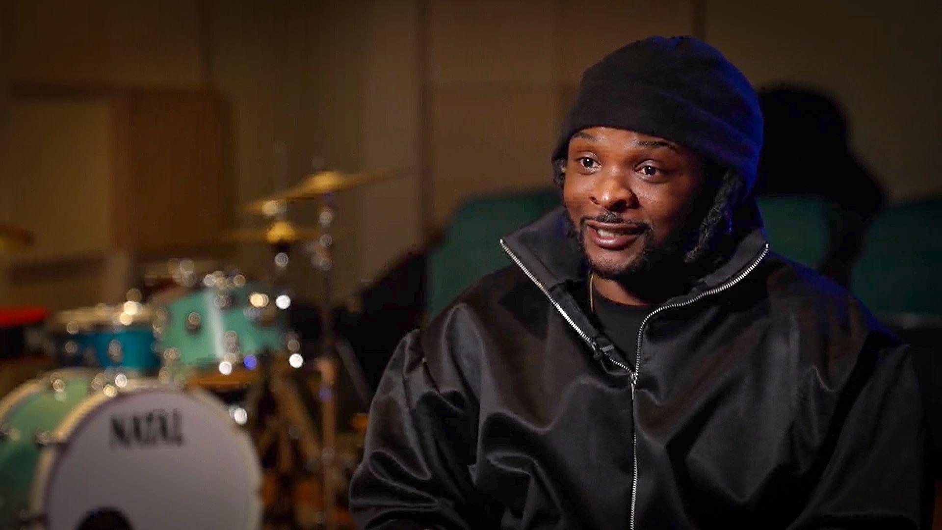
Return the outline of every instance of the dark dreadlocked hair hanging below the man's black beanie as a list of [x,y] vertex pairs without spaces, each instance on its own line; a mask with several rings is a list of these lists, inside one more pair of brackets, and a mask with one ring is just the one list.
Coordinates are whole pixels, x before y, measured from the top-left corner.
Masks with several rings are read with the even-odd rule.
[[[734,208],[743,181],[736,172],[711,160],[704,163],[704,174],[704,189],[707,192],[712,191],[712,201],[707,203],[706,200],[698,200],[696,203],[700,206],[694,205],[691,211],[692,215],[703,215],[703,221],[697,228],[692,247],[684,255],[684,262],[712,268],[720,265],[731,250],[731,237],[735,229]],[[565,179],[566,159],[557,158],[553,161],[553,182],[560,187],[560,191]],[[707,205],[708,207],[705,207]]]

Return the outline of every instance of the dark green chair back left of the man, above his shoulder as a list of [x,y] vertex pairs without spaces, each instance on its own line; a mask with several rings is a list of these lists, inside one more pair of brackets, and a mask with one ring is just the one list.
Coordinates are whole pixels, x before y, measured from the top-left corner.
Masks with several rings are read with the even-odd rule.
[[511,264],[500,238],[559,205],[560,192],[552,188],[465,201],[441,244],[430,252],[427,314],[438,314],[481,276]]

